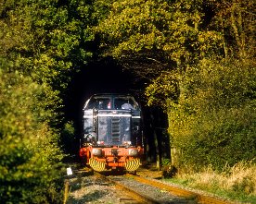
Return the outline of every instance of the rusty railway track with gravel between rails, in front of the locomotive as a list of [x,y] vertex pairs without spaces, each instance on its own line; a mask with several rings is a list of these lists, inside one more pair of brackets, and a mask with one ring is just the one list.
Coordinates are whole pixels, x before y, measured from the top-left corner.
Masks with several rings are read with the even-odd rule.
[[117,198],[121,204],[237,204],[137,174],[113,175],[94,172],[94,176],[114,185],[116,192],[121,192],[121,197]]

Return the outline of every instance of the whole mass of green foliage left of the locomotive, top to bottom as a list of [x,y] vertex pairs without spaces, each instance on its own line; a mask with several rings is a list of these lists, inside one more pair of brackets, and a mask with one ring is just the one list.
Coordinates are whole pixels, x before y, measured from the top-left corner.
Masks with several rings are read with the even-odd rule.
[[1,202],[61,202],[60,97],[92,56],[90,9],[82,0],[0,4]]

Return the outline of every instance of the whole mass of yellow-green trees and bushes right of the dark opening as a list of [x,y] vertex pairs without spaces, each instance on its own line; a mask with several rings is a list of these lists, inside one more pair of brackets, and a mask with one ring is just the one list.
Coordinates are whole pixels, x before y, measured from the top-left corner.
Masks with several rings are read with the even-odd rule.
[[147,104],[169,113],[169,132],[184,162],[221,168],[253,159],[253,3],[96,4],[108,8],[96,27],[103,55],[150,81]]

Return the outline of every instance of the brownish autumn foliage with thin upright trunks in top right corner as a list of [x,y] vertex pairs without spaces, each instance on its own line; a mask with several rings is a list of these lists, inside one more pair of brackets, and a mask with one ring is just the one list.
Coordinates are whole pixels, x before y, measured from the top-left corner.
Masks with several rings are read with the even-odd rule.
[[224,56],[241,60],[255,57],[255,3],[208,0],[208,6],[214,13],[211,30],[223,36]]

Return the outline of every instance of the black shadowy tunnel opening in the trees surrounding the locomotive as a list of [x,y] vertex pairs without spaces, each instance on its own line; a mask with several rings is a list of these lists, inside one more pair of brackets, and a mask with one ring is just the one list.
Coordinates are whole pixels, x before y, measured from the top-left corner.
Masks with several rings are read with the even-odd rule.
[[[76,129],[75,137],[63,136],[63,147],[69,154],[78,156],[79,139],[83,130],[83,105],[94,93],[131,93],[139,102],[143,111],[143,132],[147,162],[157,162],[161,155],[170,158],[170,142],[167,131],[167,115],[160,108],[147,107],[143,97],[143,81],[136,81],[134,76],[122,66],[115,64],[113,59],[104,58],[92,62],[88,67],[77,73],[70,81],[65,97],[65,119],[72,121]],[[65,140],[70,139],[70,140]],[[74,140],[72,140],[74,139]],[[70,146],[70,143],[73,145]],[[157,146],[157,147],[156,147]],[[158,154],[156,153],[159,152]],[[157,158],[159,155],[160,158]]]

